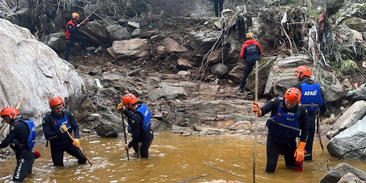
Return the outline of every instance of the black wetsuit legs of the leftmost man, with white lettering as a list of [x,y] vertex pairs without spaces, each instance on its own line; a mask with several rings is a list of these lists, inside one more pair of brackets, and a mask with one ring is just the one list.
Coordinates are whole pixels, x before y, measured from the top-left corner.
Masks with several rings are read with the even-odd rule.
[[32,150],[19,150],[15,152],[16,168],[14,171],[13,181],[23,182],[28,173],[32,173],[34,163],[34,154]]

